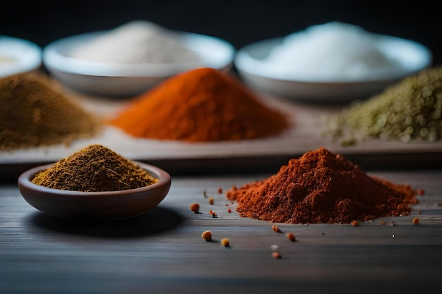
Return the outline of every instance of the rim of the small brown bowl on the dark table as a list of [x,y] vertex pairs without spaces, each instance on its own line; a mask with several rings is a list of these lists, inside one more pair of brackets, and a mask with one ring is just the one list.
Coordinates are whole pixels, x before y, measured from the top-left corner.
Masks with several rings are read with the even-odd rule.
[[[122,195],[131,195],[134,193],[139,192],[148,192],[151,190],[156,190],[157,188],[162,188],[165,185],[170,185],[172,182],[172,178],[167,173],[167,171],[164,171],[163,169],[160,169],[157,166],[153,166],[151,164],[145,164],[141,161],[132,161],[134,164],[140,166],[142,169],[145,169],[145,171],[148,171],[148,173],[151,176],[154,176],[158,179],[157,183],[153,183],[151,185],[147,185],[145,187],[141,188],[134,188],[129,190],[119,190],[119,191],[100,191],[100,192],[84,192],[84,191],[74,191],[74,190],[60,190],[60,189],[54,189],[54,188],[47,188],[42,185],[37,185],[35,183],[31,182],[31,178],[35,176],[35,174],[39,171],[42,171],[44,169],[47,169],[51,166],[53,166],[55,163],[52,164],[44,164],[40,166],[35,166],[31,169],[28,169],[27,171],[24,171],[23,173],[18,176],[18,187],[27,188],[28,190],[35,190],[37,192],[43,192],[48,193],[51,195],[64,195],[68,197],[112,197],[112,196],[119,196]],[[21,190],[21,189],[20,189]]]

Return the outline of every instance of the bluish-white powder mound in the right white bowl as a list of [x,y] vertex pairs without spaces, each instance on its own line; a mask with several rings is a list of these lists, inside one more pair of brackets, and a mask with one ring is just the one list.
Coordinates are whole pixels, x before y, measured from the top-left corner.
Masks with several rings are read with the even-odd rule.
[[287,35],[263,62],[279,76],[299,80],[364,80],[400,71],[402,65],[383,54],[376,36],[346,23],[313,25]]

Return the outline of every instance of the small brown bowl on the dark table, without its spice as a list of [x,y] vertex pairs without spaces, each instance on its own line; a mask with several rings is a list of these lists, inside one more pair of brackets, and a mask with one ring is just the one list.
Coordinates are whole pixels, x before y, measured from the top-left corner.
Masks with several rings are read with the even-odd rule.
[[143,188],[109,192],[80,192],[46,188],[31,183],[39,171],[53,164],[37,166],[18,177],[18,189],[32,207],[60,219],[112,221],[128,219],[148,212],[167,195],[171,185],[169,173],[157,166],[133,161],[158,182]]

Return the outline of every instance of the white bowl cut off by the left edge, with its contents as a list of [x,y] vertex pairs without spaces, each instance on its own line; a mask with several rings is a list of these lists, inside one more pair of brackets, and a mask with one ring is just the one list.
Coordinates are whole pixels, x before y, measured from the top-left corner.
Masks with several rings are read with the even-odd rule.
[[42,49],[28,40],[0,35],[0,78],[40,68]]

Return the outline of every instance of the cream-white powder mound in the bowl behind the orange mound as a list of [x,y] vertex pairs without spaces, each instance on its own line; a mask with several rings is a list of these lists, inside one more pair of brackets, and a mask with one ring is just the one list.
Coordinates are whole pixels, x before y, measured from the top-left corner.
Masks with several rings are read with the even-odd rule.
[[71,57],[101,63],[199,63],[165,27],[134,20],[109,30],[71,51]]

